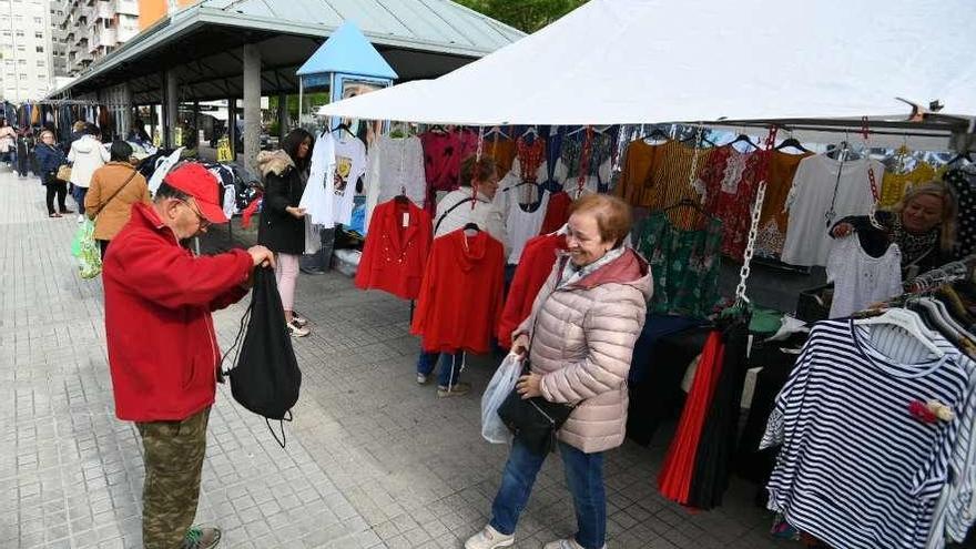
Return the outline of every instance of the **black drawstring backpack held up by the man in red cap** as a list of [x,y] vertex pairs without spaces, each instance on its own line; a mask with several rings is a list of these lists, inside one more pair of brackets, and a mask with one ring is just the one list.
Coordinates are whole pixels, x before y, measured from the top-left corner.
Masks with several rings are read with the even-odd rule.
[[[224,357],[234,348],[237,348],[236,366],[227,374],[231,394],[242,406],[264,416],[267,428],[284,448],[284,421],[292,420],[292,407],[298,401],[302,370],[292,349],[292,337],[285,326],[285,313],[272,268],[254,270],[251,305],[241,318],[234,345]],[[281,438],[271,427],[271,419],[279,421]]]

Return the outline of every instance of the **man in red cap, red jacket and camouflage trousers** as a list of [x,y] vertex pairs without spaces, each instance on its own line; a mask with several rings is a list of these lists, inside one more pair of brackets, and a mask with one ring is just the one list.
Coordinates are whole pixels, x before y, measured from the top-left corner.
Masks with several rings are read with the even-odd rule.
[[119,419],[143,443],[143,545],[204,549],[216,528],[191,528],[221,352],[211,313],[247,294],[252,270],[273,265],[263,246],[195,257],[182,241],[227,221],[213,175],[186,164],[151,205],[135,204],[105,254],[105,335]]

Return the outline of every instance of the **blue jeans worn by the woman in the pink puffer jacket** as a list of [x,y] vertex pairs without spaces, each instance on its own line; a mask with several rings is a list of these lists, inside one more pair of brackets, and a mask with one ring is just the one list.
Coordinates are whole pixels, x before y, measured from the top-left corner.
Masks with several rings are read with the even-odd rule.
[[[603,453],[583,454],[560,441],[559,455],[576,507],[576,542],[586,549],[600,549],[607,538]],[[505,535],[515,533],[519,515],[529,501],[536,475],[545,460],[546,456],[532,453],[515,439],[501,475],[501,487],[491,504],[491,528]]]

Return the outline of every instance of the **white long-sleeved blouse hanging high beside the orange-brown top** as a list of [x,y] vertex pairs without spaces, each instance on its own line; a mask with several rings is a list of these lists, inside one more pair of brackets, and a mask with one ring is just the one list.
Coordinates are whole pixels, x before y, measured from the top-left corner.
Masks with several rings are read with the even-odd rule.
[[825,154],[804,159],[793,177],[786,207],[790,225],[781,260],[791,265],[825,265],[831,248],[828,228],[848,215],[866,215],[874,199],[867,167],[884,175],[876,160],[838,161]]

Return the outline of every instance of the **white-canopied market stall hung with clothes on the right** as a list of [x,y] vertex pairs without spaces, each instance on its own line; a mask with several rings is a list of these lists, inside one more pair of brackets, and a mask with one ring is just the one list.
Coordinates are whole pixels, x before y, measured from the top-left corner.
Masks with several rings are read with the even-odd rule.
[[[654,295],[631,366],[629,430],[649,439],[653,428],[648,433],[648,423],[680,414],[658,478],[667,497],[695,508],[721,505],[738,456],[740,472],[763,485],[769,480],[767,502],[785,517],[784,532],[801,530],[833,547],[942,547],[946,540],[962,541],[972,525],[959,511],[946,509],[972,499],[967,486],[976,478],[976,462],[965,443],[976,433],[968,411],[976,376],[966,350],[974,340],[962,329],[968,319],[965,304],[976,296],[956,287],[953,295],[963,305],[955,314],[905,316],[916,314],[917,307],[901,306],[903,294],[915,284],[914,273],[903,276],[904,264],[889,262],[882,270],[885,284],[871,288],[882,288],[883,294],[865,292],[852,282],[871,273],[877,276],[876,257],[857,236],[842,240],[828,233],[854,217],[880,228],[884,221],[880,209],[911,200],[913,189],[935,180],[962,203],[958,246],[952,253],[963,257],[973,252],[976,210],[970,196],[976,170],[969,151],[976,67],[967,52],[976,45],[970,32],[976,12],[964,4],[819,2],[805,7],[801,16],[793,6],[762,0],[680,4],[593,0],[542,31],[437,80],[339,101],[323,106],[319,114],[424,124],[394,124],[397,133],[386,136],[375,156],[369,151],[370,159],[384,160],[377,161],[366,181],[365,194],[386,199],[375,206],[384,220],[390,217],[387,211],[405,215],[403,225],[395,215],[375,228],[370,224],[367,248],[373,242],[383,243],[366,252],[374,272],[377,262],[408,257],[405,230],[418,214],[405,213],[411,210],[404,204],[433,212],[438,194],[457,187],[460,159],[496,161],[497,202],[508,225],[501,244],[519,251],[507,254],[507,263],[518,265],[518,284],[512,284],[518,292],[510,292],[520,296],[512,306],[516,316],[525,314],[526,293],[531,298],[538,292],[538,281],[532,279],[538,277],[520,277],[519,271],[546,272],[529,254],[539,245],[550,246],[550,252],[558,245],[536,238],[558,241],[552,233],[565,221],[568,202],[586,193],[610,192],[634,207],[640,222],[631,244],[651,264]],[[939,32],[933,33],[935,28]],[[580,40],[586,35],[601,39],[598,44]],[[406,170],[420,162],[423,173]],[[397,187],[393,197],[390,189]],[[387,205],[393,201],[400,205]],[[893,223],[897,233],[897,221]],[[926,240],[917,250],[903,244],[899,253],[928,253],[933,242]],[[884,246],[882,255],[891,248]],[[832,313],[830,304],[821,303],[826,311],[820,317],[771,315],[763,303],[746,295],[751,271],[756,268],[753,255],[802,273],[822,273],[817,270],[826,267],[835,282],[833,295],[843,295],[847,309]],[[723,263],[739,271],[732,281],[734,292],[722,292]],[[972,267],[963,271],[962,278],[972,277]],[[407,276],[407,270],[400,272]],[[895,274],[896,279],[887,276]],[[423,282],[418,292],[424,293]],[[901,322],[892,319],[895,315],[882,315],[881,321],[864,324],[874,328],[851,328],[846,335],[841,333],[843,326],[854,326],[848,321],[817,324],[807,340],[811,326],[804,321],[847,317],[878,301],[904,312],[895,313],[904,322],[918,319],[911,340],[941,353],[939,357],[952,356],[954,372],[962,373],[952,379],[933,377],[934,384],[957,384],[956,393],[939,393],[936,398],[952,408],[950,417],[957,420],[913,411],[938,433],[919,438],[914,455],[926,450],[947,457],[926,461],[899,454],[912,467],[937,470],[906,489],[898,484],[903,471],[881,467],[872,472],[870,485],[882,489],[883,498],[872,497],[856,481],[847,486],[871,465],[848,459],[843,448],[831,446],[836,434],[831,429],[840,429],[841,417],[831,417],[837,421],[833,427],[804,438],[803,428],[814,411],[802,406],[810,392],[834,392],[853,403],[876,404],[882,411],[871,419],[871,429],[882,439],[907,436],[916,428],[898,415],[901,400],[891,398],[904,390],[904,384],[887,379],[886,385],[880,382],[883,375],[865,375],[858,369],[864,367],[861,359],[852,355],[861,345],[857,337],[867,329],[888,336],[874,344],[889,353],[911,346],[909,336],[889,334],[895,329],[891,326]],[[510,323],[508,304],[505,308],[499,323]],[[945,335],[949,331],[953,337]],[[505,334],[499,335],[504,339]],[[684,336],[687,342],[675,345]],[[830,348],[824,339],[831,337],[844,338],[841,370],[854,380],[852,385],[863,382],[866,388],[844,392],[828,383],[796,387],[796,372],[822,372],[833,363],[817,366],[796,363],[795,357],[824,355]],[[450,347],[482,350],[456,342]],[[901,360],[916,358],[899,355]],[[670,405],[660,406],[661,401]],[[921,406],[937,416],[931,404]],[[827,398],[824,406],[830,405]],[[740,438],[742,407],[753,410]],[[856,416],[856,409],[852,413]],[[959,433],[966,437],[958,438]],[[776,467],[769,462],[767,451],[767,466],[755,466],[760,439],[764,448],[772,444],[783,448],[785,457]],[[784,468],[784,460],[797,459],[796,448],[803,445],[826,456],[824,464],[840,466]],[[881,446],[868,443],[857,448],[865,456],[881,451]],[[953,474],[947,472],[950,468]],[[823,485],[841,487],[840,494],[831,492],[831,505],[819,500],[815,490],[794,487]],[[905,511],[923,489],[922,507],[915,515]],[[864,520],[856,512],[860,509],[868,510]],[[908,531],[899,523],[907,523]],[[877,546],[865,540],[864,530],[884,541]]]

